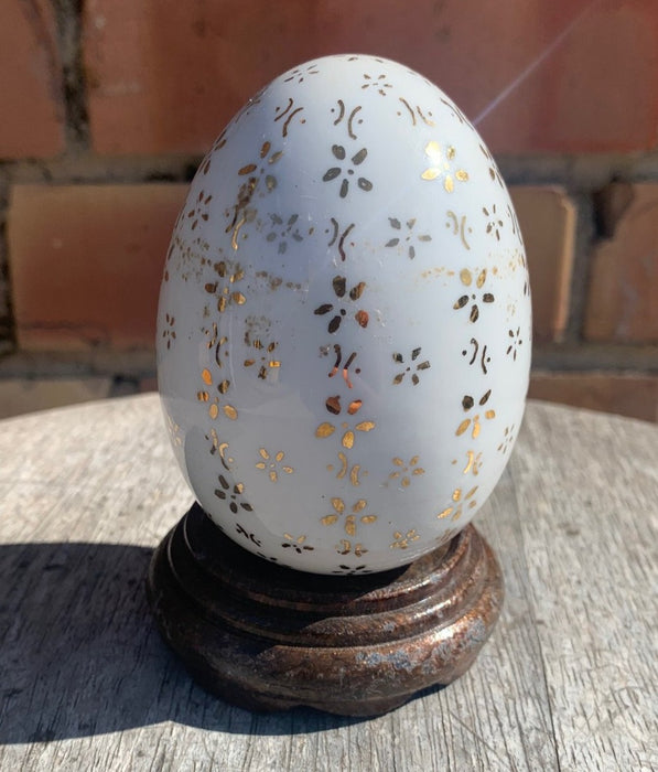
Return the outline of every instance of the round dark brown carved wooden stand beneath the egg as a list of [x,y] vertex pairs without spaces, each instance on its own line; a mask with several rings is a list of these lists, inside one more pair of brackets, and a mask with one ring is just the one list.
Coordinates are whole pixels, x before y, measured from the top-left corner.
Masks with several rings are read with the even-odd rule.
[[147,581],[162,636],[192,676],[256,710],[375,716],[462,675],[500,611],[503,579],[473,526],[409,566],[327,577],[270,564],[198,504]]

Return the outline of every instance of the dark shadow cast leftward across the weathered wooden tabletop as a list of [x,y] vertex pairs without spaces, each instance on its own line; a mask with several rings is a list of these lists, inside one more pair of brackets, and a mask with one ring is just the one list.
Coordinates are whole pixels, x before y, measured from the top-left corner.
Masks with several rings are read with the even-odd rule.
[[289,736],[355,719],[257,715],[195,686],[164,646],[144,592],[152,550],[0,546],[0,743],[87,737],[171,720]]

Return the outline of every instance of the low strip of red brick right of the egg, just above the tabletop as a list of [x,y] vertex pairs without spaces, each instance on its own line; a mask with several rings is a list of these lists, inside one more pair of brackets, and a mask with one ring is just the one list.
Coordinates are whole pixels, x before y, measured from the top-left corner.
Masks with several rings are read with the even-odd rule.
[[658,376],[533,373],[529,396],[573,407],[658,421]]

